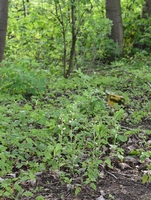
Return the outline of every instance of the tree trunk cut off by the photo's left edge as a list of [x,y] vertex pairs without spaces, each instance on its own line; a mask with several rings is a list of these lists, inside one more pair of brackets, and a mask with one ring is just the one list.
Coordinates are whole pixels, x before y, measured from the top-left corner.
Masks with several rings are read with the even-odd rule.
[[8,18],[8,0],[0,0],[0,62],[3,58]]

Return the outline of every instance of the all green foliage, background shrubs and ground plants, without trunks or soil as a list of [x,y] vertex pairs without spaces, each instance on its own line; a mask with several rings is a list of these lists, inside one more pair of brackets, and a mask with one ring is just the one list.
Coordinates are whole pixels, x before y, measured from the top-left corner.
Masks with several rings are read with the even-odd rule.
[[[65,56],[68,68],[70,4],[61,1],[57,16],[55,3],[33,0],[24,5],[14,0],[9,5],[5,59],[0,65],[3,197],[32,196],[40,188],[23,191],[23,182],[50,170],[69,185],[80,177],[75,194],[81,184],[96,189],[100,166],[112,168],[115,157],[119,162],[125,156],[144,161],[151,155],[150,142],[145,141],[151,131],[141,129],[145,120],[150,123],[151,114],[150,18],[140,19],[142,1],[122,1],[125,58],[119,58],[108,38],[111,22],[105,19],[104,1],[78,1],[74,70],[68,79],[63,77],[62,60]],[[58,17],[63,17],[65,32]],[[125,104],[110,107],[108,94],[122,95]],[[125,152],[123,144],[133,135],[142,143]],[[145,176],[144,182],[149,178]]]

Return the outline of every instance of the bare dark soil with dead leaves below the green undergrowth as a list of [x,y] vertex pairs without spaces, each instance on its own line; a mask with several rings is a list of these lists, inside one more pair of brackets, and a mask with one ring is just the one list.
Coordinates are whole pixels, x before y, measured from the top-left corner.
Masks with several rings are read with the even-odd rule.
[[[147,121],[139,124],[140,126],[143,131],[151,130],[151,124]],[[129,127],[129,129],[131,128]],[[129,143],[131,146],[137,146],[140,142],[137,135],[131,137],[130,140],[131,142],[123,145],[125,151],[130,148]],[[150,160],[140,163],[137,158],[128,157],[120,164],[118,160],[112,160],[114,166],[112,169],[107,167],[100,169],[102,177],[100,176],[98,179],[96,190],[89,185],[83,185],[77,196],[74,193],[74,186],[72,188],[67,184],[61,184],[57,174],[53,172],[40,173],[37,174],[36,183],[28,182],[23,188],[32,191],[35,186],[38,186],[41,191],[38,191],[33,197],[20,197],[20,200],[35,200],[37,196],[42,196],[45,200],[151,200],[151,183],[142,183],[142,175],[145,173],[148,163]],[[74,181],[74,185],[78,185],[78,183],[80,183],[80,177]]]

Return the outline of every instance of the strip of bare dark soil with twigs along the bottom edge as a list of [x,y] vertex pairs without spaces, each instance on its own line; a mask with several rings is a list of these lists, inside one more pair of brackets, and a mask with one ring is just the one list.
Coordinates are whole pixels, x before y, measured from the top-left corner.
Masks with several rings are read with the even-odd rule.
[[96,191],[89,186],[83,186],[77,197],[74,195],[74,190],[67,185],[61,185],[52,175],[47,174],[40,178],[38,185],[43,188],[38,194],[32,198],[21,197],[20,199],[34,200],[41,195],[46,200],[150,200],[151,184],[142,184],[140,177],[133,172],[134,170],[126,170],[122,173],[106,172],[104,177],[98,180]]

